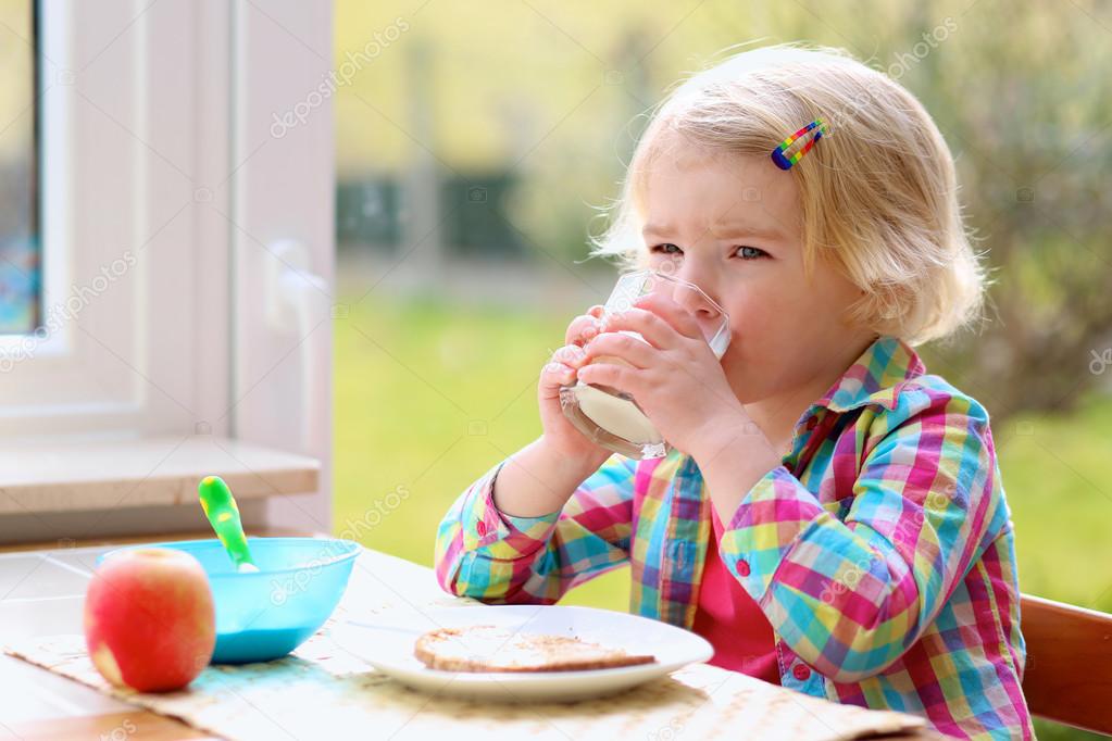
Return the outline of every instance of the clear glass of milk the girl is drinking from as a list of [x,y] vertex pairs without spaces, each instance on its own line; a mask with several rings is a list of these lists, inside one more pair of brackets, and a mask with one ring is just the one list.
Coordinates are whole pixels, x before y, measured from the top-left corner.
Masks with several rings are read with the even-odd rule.
[[[718,360],[729,347],[729,317],[698,286],[656,270],[642,270],[618,278],[603,317],[632,309],[648,293],[664,293],[695,317],[703,337]],[[637,332],[619,330],[642,342]],[[599,356],[592,362],[627,364],[620,358]],[[576,381],[559,390],[560,408],[572,424],[596,444],[628,458],[663,458],[672,449],[634,398],[600,383]]]

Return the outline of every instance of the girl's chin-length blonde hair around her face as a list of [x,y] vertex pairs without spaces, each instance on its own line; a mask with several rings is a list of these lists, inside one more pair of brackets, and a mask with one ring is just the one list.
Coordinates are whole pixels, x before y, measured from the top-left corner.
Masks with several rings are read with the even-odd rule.
[[977,318],[985,276],[962,224],[946,142],[907,90],[835,49],[753,49],[676,88],[652,112],[592,257],[646,264],[644,189],[664,152],[662,133],[768,157],[818,118],[828,134],[784,173],[800,191],[807,274],[827,260],[863,291],[846,319],[911,344]]

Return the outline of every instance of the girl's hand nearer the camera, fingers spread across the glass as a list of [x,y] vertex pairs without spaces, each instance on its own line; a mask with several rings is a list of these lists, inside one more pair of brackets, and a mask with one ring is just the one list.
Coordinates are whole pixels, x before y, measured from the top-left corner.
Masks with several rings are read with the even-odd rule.
[[[637,332],[647,344],[617,330]],[[580,381],[633,394],[664,439],[699,463],[754,427],[695,318],[668,297],[651,293],[607,317],[585,350]],[[586,364],[599,356],[616,356],[632,368]]]

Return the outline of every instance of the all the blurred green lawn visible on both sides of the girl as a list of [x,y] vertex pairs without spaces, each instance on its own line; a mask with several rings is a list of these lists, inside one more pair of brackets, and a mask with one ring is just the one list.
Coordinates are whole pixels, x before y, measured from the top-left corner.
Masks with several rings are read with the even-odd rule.
[[[337,319],[336,531],[431,565],[449,504],[540,434],[536,378],[576,309],[371,298]],[[994,435],[1023,591],[1112,611],[1112,400],[1013,420]],[[380,514],[376,500],[396,507]],[[628,595],[624,568],[562,603],[624,610]]]

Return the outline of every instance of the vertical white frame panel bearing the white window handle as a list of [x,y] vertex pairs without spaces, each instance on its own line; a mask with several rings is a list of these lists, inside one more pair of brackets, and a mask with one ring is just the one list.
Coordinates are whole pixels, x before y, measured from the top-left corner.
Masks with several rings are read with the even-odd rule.
[[[320,491],[267,500],[268,523],[331,523],[335,134],[329,0],[234,3],[237,438],[311,455]],[[311,106],[276,137],[275,120]],[[266,142],[260,144],[260,142]]]

